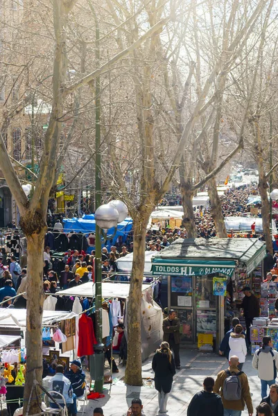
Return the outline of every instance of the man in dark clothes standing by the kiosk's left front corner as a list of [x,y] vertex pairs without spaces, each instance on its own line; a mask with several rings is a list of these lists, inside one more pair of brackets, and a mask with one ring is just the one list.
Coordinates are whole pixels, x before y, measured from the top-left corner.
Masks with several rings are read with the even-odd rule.
[[174,353],[175,367],[180,370],[180,320],[173,309],[168,311],[168,317],[163,320],[163,340],[170,345]]

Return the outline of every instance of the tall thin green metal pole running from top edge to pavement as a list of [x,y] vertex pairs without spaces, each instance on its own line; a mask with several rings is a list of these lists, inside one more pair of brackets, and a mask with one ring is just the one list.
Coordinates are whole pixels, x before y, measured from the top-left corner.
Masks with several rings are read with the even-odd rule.
[[[89,1],[89,7],[94,15],[96,24],[96,67],[99,67],[100,62],[100,49],[99,49],[99,27],[98,19],[92,2]],[[101,206],[101,78],[96,77],[96,206]],[[96,340],[98,344],[94,347],[94,390],[96,392],[103,392],[103,379],[104,379],[104,351],[103,351],[103,319],[102,319],[102,293],[101,293],[101,229],[96,225],[96,257],[94,260],[95,265],[95,293],[96,293]],[[91,366],[90,366],[91,367]]]

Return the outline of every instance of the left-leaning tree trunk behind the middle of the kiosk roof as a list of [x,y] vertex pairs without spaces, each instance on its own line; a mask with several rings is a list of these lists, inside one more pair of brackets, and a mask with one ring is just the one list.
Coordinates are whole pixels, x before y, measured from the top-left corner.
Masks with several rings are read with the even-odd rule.
[[222,213],[221,201],[217,192],[216,177],[207,182],[209,201],[211,204],[211,216],[214,218],[216,234],[220,239],[227,239],[227,230]]

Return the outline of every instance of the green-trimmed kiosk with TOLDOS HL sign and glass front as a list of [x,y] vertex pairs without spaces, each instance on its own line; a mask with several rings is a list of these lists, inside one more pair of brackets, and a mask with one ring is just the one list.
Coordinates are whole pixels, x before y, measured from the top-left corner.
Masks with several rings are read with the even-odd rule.
[[265,245],[257,239],[178,239],[154,254],[153,275],[168,277],[166,306],[177,311],[182,343],[204,347],[209,335],[206,344],[218,347],[225,322],[229,326],[238,314],[235,301],[264,257]]

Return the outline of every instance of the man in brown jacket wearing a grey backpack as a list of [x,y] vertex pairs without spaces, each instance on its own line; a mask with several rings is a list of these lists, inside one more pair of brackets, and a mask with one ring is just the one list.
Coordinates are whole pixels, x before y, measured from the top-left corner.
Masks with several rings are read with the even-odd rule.
[[224,416],[241,416],[246,404],[250,416],[253,414],[252,399],[246,374],[238,370],[238,357],[229,359],[229,367],[217,374],[214,393],[221,396]]

